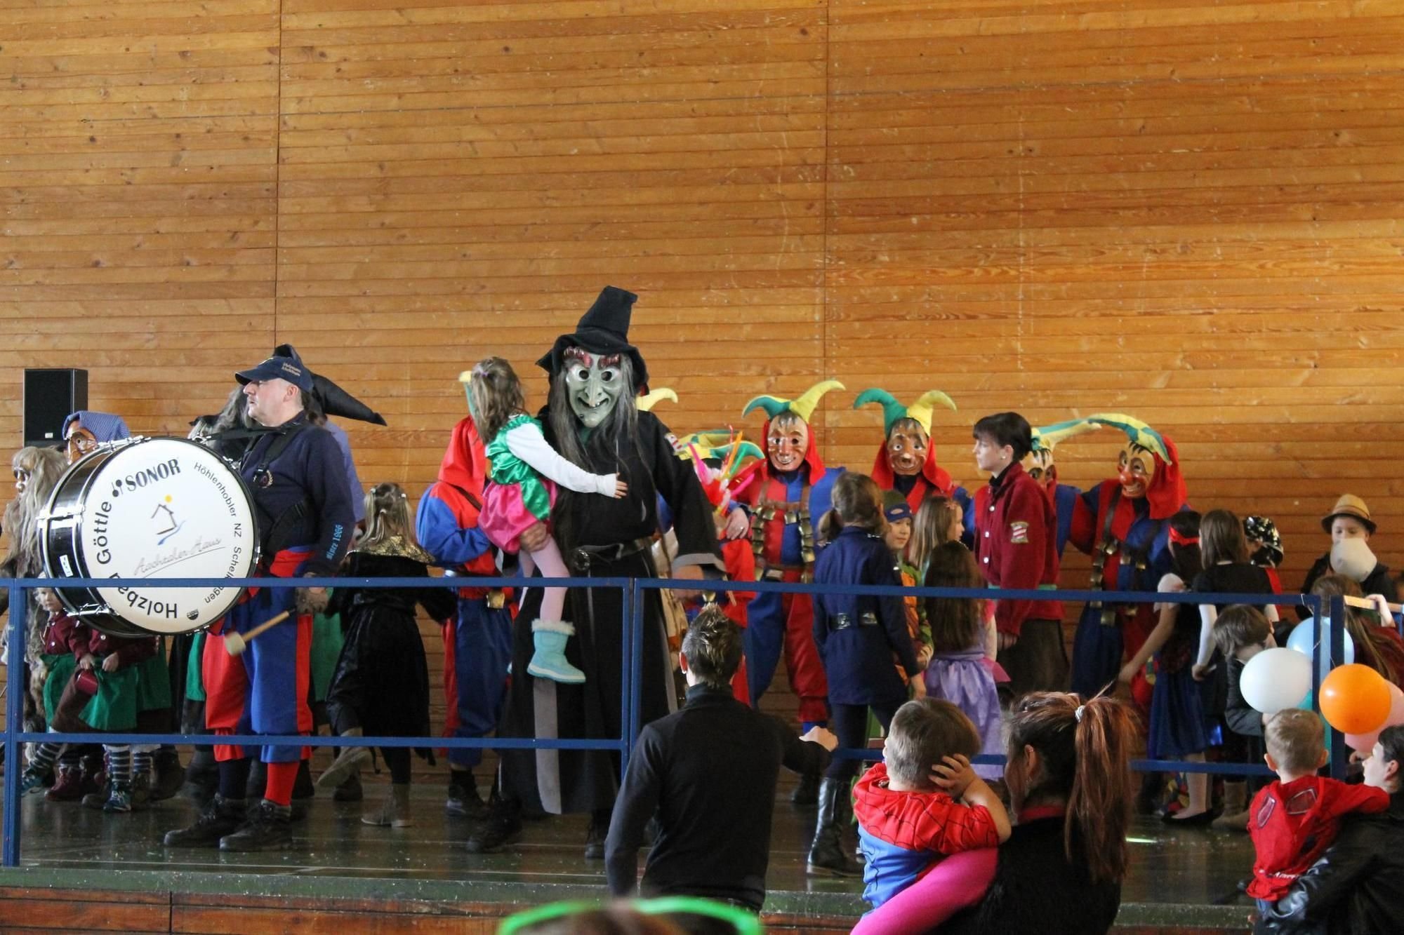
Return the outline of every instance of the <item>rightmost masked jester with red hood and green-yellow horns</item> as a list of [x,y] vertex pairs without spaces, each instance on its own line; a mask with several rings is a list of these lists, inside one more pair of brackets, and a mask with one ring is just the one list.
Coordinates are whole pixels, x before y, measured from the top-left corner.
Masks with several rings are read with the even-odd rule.
[[[1092,591],[1155,591],[1171,570],[1167,519],[1188,508],[1179,452],[1168,435],[1132,416],[1098,413],[1087,421],[1122,430],[1126,445],[1118,476],[1077,498],[1068,541],[1092,556]],[[1090,698],[1115,682],[1123,656],[1136,653],[1154,626],[1151,604],[1090,602],[1073,639],[1073,691]],[[1139,702],[1148,703],[1147,689],[1132,685]]]

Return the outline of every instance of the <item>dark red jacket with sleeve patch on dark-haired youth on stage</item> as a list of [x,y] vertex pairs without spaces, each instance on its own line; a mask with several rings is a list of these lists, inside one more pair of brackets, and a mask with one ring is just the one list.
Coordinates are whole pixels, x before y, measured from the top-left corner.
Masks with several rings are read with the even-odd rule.
[[[1057,587],[1057,512],[1043,486],[1015,462],[974,493],[976,562],[997,588]],[[1024,621],[1061,621],[1057,601],[997,601],[994,626],[1019,635]]]

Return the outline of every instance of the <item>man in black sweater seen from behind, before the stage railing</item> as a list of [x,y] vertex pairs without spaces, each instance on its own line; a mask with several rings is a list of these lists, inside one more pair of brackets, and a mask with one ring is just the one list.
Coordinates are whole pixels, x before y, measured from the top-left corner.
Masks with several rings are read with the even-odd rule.
[[643,870],[644,896],[702,896],[760,913],[781,764],[821,772],[838,740],[823,727],[803,738],[731,696],[741,630],[708,605],[682,639],[688,699],[643,729],[615,800],[605,841],[614,896],[639,889],[639,847],[657,814]]

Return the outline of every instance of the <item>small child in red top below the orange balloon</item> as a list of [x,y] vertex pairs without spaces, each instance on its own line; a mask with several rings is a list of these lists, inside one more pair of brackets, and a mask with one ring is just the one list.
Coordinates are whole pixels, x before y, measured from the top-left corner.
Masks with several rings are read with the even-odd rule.
[[1257,859],[1248,896],[1275,903],[1316,863],[1341,830],[1341,816],[1384,811],[1390,793],[1318,776],[1325,765],[1325,729],[1316,712],[1287,708],[1264,729],[1268,767],[1278,774],[1252,800],[1248,834]]

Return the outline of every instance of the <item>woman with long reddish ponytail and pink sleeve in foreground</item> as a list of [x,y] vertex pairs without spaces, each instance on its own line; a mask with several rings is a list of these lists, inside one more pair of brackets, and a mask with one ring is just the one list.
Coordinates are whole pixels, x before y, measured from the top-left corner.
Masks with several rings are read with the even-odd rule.
[[1134,715],[1113,698],[1026,695],[1009,719],[1004,769],[1018,814],[1012,837],[948,856],[854,934],[1109,931],[1126,876],[1134,738]]

